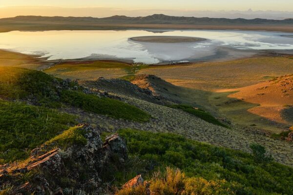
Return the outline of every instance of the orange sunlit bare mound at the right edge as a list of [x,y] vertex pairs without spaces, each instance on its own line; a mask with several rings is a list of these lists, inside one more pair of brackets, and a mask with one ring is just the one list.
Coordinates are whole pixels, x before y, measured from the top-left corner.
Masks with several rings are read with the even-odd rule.
[[293,121],[283,110],[293,106],[293,75],[275,78],[244,88],[228,97],[258,104],[248,111],[270,120],[293,125]]

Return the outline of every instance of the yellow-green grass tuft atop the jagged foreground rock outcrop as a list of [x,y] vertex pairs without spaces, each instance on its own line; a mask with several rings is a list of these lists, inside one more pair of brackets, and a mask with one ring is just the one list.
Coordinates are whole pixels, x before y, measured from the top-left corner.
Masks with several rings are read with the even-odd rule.
[[83,126],[71,127],[62,134],[53,137],[52,139],[45,142],[47,145],[57,145],[62,149],[66,149],[72,145],[85,145],[87,143],[84,137],[85,132]]

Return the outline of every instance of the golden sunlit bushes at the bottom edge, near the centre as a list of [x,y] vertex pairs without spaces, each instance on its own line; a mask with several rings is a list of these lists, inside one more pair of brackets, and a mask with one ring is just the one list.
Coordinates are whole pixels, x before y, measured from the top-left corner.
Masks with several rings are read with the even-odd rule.
[[[186,177],[179,169],[166,168],[165,173],[156,172],[149,181],[154,195],[222,195],[234,194],[224,184],[225,180],[208,181],[202,177]],[[124,188],[116,195],[146,195],[148,187],[139,185]]]

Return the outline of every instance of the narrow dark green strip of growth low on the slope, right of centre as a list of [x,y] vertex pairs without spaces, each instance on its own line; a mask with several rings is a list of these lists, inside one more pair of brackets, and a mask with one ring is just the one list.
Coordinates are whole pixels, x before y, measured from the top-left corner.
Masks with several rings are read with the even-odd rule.
[[192,106],[188,106],[188,105],[170,105],[170,108],[175,108],[175,109],[180,109],[183,110],[191,115],[194,115],[196,117],[199,117],[209,123],[215,124],[215,125],[219,125],[222,127],[226,127],[226,128],[230,128],[228,125],[225,125],[223,123],[221,123],[220,121],[218,121],[215,117],[213,117],[211,114],[209,114],[208,112],[201,110],[201,109],[194,109]]

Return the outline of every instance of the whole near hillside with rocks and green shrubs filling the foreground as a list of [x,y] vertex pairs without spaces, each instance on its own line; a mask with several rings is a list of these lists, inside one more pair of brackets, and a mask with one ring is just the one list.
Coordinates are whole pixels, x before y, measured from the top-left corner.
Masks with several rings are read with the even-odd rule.
[[[292,192],[291,142],[182,105],[161,78],[136,79],[170,91],[1,67],[1,195]],[[149,184],[122,188],[140,174]]]

